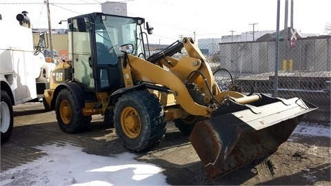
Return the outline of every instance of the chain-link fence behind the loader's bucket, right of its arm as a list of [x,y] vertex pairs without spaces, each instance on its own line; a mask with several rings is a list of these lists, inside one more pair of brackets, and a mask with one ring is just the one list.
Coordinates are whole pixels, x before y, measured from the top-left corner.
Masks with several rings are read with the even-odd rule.
[[241,85],[246,95],[299,97],[319,107],[306,114],[304,121],[330,125],[331,36],[297,39],[295,43],[281,39],[278,65],[275,39],[266,40],[209,43],[199,48],[222,91]]

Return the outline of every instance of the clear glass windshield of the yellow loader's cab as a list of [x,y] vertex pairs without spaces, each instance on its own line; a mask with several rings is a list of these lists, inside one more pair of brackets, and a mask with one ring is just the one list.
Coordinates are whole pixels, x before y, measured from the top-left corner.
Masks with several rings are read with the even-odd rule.
[[[104,15],[102,17],[105,17]],[[138,27],[140,32],[140,26]],[[106,19],[95,20],[95,38],[97,43],[103,43],[107,50],[114,52],[114,56],[121,56],[123,52],[119,46],[131,43],[137,52],[137,21],[130,17],[106,16]]]

